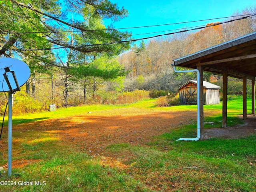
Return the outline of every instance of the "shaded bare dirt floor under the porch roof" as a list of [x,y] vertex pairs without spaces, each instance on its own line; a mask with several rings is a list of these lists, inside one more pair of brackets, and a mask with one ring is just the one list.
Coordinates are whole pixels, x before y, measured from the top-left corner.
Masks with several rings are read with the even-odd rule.
[[[242,116],[240,116],[242,118]],[[204,130],[204,138],[240,138],[256,134],[256,114],[248,114],[245,124],[226,128],[211,128]]]

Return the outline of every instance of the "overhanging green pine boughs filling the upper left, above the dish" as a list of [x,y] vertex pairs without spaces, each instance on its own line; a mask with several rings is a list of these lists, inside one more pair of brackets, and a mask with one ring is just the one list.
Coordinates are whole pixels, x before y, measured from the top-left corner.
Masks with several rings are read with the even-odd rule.
[[[76,19],[71,19],[70,12]],[[127,10],[119,9],[109,0],[0,1],[0,55],[8,56],[7,50],[12,49],[22,57],[29,54],[31,58],[44,64],[65,68],[67,66],[63,66],[54,57],[49,57],[52,52],[45,49],[56,48],[58,52],[58,48],[61,47],[83,53],[119,54],[129,48],[129,43],[117,46],[104,43],[127,40],[130,34],[110,30],[112,26],[106,28],[101,25],[101,28],[97,29],[96,22],[92,20],[102,22],[102,19],[110,18],[116,21],[127,15]],[[88,17],[90,19],[84,20]],[[76,39],[73,42],[70,41],[67,32],[71,29],[76,31]],[[79,38],[84,41],[77,40]],[[104,45],[91,46],[91,40],[98,40],[98,44]],[[27,49],[33,51],[23,51]]]

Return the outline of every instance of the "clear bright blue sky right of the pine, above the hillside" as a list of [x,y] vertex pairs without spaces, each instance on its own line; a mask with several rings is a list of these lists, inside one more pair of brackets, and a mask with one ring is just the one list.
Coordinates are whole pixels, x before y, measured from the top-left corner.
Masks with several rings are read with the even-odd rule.
[[[127,18],[114,23],[115,28],[172,24],[228,17],[234,15],[236,11],[242,11],[249,6],[256,6],[255,0],[111,0],[111,2],[117,3],[119,8],[124,7],[129,12]],[[132,31],[132,34],[143,34],[222,21],[224,19],[127,30]],[[133,38],[144,38],[164,33],[168,32],[136,35]]]

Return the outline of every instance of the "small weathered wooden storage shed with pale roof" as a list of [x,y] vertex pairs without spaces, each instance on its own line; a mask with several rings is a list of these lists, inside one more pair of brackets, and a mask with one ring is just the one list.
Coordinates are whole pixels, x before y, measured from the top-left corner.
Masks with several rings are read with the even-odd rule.
[[[203,82],[204,105],[220,103],[220,88],[207,81]],[[197,104],[197,81],[189,80],[178,90],[181,104]]]

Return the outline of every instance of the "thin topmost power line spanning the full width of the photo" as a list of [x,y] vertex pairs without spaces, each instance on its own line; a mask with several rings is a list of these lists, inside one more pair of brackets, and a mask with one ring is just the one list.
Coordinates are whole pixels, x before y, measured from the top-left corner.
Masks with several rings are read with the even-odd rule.
[[[134,28],[146,28],[146,27],[157,27],[157,26],[166,26],[166,25],[176,25],[176,24],[186,24],[193,22],[202,22],[208,20],[216,20],[216,19],[225,19],[225,18],[233,18],[240,16],[253,16],[255,14],[244,14],[244,15],[236,15],[236,16],[228,16],[228,17],[220,17],[220,18],[211,18],[204,20],[196,20],[196,21],[187,21],[187,22],[178,22],[178,23],[170,23],[170,24],[158,24],[158,25],[148,25],[148,26],[137,26],[137,27],[125,27],[125,28],[110,28],[110,29],[96,29],[96,30],[73,30],[73,31],[46,31],[46,32],[13,32],[15,34],[37,34],[37,33],[70,33],[70,32],[93,32],[93,31],[107,31],[107,30],[121,30],[121,29],[134,29]],[[0,34],[8,34],[10,32],[0,32]]]

